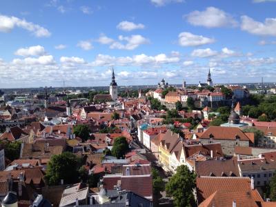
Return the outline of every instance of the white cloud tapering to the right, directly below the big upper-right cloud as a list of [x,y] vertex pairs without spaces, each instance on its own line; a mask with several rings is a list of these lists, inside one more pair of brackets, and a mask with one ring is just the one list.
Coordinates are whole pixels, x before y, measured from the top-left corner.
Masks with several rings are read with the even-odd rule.
[[215,39],[192,34],[190,32],[181,32],[178,35],[178,42],[180,46],[202,46],[214,43]]

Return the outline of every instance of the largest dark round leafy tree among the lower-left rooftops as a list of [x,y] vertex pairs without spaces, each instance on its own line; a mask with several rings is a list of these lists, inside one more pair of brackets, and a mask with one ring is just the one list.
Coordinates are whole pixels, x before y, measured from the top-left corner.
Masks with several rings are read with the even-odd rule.
[[73,184],[79,178],[80,160],[71,152],[52,155],[46,170],[46,183],[54,186],[63,179],[64,184]]

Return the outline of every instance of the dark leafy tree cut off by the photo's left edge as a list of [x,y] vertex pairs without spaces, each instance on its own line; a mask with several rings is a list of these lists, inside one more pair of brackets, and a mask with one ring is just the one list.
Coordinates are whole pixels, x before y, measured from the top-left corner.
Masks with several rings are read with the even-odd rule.
[[0,146],[3,146],[5,150],[5,157],[14,161],[14,159],[19,159],[20,150],[21,150],[21,141],[6,141],[1,140]]

